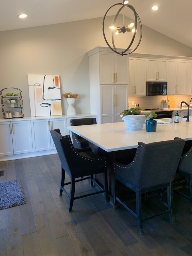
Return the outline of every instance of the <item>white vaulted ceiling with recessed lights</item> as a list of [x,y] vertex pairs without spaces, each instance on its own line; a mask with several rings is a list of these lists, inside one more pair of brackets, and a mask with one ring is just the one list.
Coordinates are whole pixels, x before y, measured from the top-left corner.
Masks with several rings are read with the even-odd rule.
[[[1,0],[0,31],[103,17],[121,0]],[[141,23],[192,47],[192,0],[130,0]],[[159,7],[152,11],[153,5]],[[17,16],[27,13],[26,19]]]

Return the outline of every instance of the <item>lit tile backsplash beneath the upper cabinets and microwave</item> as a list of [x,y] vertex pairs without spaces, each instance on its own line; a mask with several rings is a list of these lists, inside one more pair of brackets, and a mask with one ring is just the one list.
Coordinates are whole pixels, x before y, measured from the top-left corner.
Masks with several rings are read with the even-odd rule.
[[[128,97],[128,108],[134,107],[132,105],[132,101],[134,104],[139,104],[139,106],[143,109],[145,108],[162,108],[163,100],[167,101],[169,95],[166,96],[146,96],[146,97]],[[192,95],[175,95],[175,104],[176,107],[179,107],[181,101],[185,101],[189,104]]]

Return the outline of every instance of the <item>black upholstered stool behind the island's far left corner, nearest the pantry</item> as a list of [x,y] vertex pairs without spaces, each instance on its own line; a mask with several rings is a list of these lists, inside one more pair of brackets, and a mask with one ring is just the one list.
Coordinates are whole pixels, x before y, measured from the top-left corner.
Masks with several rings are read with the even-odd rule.
[[[70,125],[76,126],[76,125],[96,125],[97,120],[96,118],[79,118],[79,119],[71,119]],[[73,146],[78,149],[86,148],[89,146],[88,140],[85,140],[81,136],[75,134],[74,132],[71,132],[72,138],[73,138]]]

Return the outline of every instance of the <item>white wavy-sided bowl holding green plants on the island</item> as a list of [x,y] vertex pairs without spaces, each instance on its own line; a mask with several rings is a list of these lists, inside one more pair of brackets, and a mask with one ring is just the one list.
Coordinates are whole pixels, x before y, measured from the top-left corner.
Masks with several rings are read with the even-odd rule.
[[125,123],[125,127],[128,130],[141,130],[145,124],[146,117],[145,115],[128,115],[128,116],[122,116],[122,120]]

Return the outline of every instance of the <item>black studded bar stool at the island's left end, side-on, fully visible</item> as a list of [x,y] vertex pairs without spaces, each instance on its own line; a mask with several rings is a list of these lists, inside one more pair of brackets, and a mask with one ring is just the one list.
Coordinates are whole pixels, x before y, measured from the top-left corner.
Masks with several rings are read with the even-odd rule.
[[[74,148],[70,135],[62,136],[59,129],[51,130],[50,133],[61,161],[61,183],[59,195],[61,196],[62,192],[64,192],[69,199],[68,211],[70,212],[72,210],[73,201],[75,199],[99,193],[104,193],[106,201],[109,202],[106,157],[101,157],[95,154],[92,152],[91,148]],[[69,175],[70,182],[64,183],[65,172]],[[104,174],[104,188],[102,188],[93,178],[93,175],[98,173]],[[100,190],[75,197],[75,183],[85,179],[90,179],[91,186],[94,183],[98,188],[100,188]],[[65,185],[69,184],[70,195],[64,188]]]

